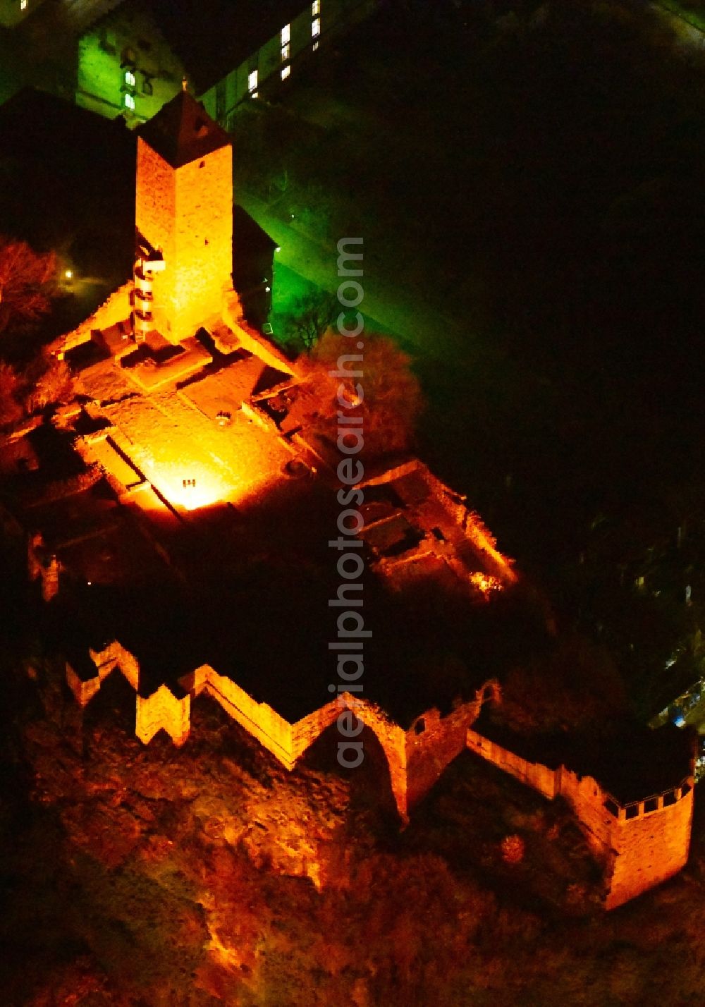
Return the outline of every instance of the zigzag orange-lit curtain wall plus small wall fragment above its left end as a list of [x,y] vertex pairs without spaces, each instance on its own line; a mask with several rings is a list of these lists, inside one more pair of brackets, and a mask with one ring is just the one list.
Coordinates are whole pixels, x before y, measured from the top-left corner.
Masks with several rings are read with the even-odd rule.
[[[29,552],[30,574],[40,577],[42,593],[48,600],[58,589],[55,558],[42,555],[41,547],[33,543]],[[692,770],[668,790],[623,804],[591,776],[580,776],[565,765],[549,767],[531,762],[472,730],[482,703],[499,698],[500,688],[494,681],[485,683],[472,700],[444,717],[436,709],[427,710],[405,731],[379,706],[349,693],[341,694],[292,724],[207,665],[182,678],[176,692],[162,685],[145,697],[139,691],[139,662],[118,641],[103,651],[91,651],[90,656],[95,675],[80,675],[72,665],[66,665],[66,680],[78,702],[85,707],[106,677],[119,669],[135,690],[135,730],[144,743],[164,730],[175,744],[183,744],[190,731],[191,704],[205,694],[287,769],[292,769],[343,710],[354,711],[382,745],[397,809],[405,823],[413,805],[467,746],[548,800],[560,796],[567,801],[604,866],[606,908],[621,905],[672,877],[688,860],[693,818]]]

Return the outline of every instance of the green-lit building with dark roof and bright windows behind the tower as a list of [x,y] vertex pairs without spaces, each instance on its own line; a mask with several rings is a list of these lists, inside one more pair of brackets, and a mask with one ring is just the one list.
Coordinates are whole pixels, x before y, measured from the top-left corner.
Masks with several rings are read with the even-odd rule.
[[76,100],[110,118],[122,114],[139,123],[173,98],[185,77],[209,115],[228,128],[238,105],[273,93],[320,44],[377,5],[378,0],[192,5],[125,0],[80,39]]

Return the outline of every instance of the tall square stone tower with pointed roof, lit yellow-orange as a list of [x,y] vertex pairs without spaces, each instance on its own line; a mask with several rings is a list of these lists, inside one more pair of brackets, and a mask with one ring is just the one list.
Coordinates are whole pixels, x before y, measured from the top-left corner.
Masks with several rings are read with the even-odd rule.
[[137,136],[135,332],[177,343],[233,285],[233,148],[185,84]]

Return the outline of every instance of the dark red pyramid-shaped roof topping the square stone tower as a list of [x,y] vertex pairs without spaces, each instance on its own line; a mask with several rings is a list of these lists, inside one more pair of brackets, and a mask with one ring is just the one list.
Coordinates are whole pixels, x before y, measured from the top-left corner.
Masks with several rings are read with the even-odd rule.
[[137,135],[172,168],[180,168],[230,144],[224,129],[184,89],[137,130]]

